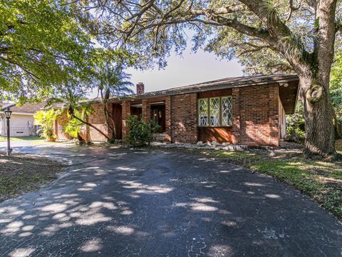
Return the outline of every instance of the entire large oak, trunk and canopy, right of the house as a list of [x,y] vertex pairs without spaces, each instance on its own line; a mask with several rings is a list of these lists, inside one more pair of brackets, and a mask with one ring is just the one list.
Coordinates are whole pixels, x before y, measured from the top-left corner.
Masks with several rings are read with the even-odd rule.
[[[73,1],[107,46],[125,45],[165,65],[195,31],[194,49],[238,56],[252,73],[295,71],[306,121],[305,151],[336,155],[329,79],[341,27],[336,0]],[[83,12],[82,12],[83,10]],[[262,64],[262,65],[260,65]]]

